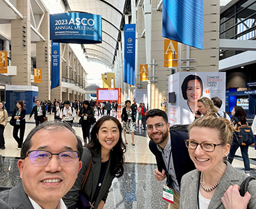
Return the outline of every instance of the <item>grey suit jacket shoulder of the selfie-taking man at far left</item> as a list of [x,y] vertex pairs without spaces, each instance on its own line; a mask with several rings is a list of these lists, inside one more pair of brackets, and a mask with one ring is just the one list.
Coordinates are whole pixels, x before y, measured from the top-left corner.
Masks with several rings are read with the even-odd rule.
[[10,190],[0,192],[0,208],[33,209],[29,197],[24,192],[22,183]]

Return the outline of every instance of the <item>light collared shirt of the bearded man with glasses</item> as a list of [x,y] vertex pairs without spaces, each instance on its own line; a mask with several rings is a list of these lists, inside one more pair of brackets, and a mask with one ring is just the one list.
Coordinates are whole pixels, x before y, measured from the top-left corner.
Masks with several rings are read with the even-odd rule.
[[[162,153],[162,157],[163,157],[164,164],[166,165],[166,169],[168,169],[169,167],[168,174],[172,178],[171,184],[173,185],[173,188],[175,189],[175,191],[179,193],[179,190],[180,190],[179,183],[177,181],[174,164],[173,164],[173,152],[171,152],[172,144],[170,143],[170,135],[169,135],[169,139],[166,144],[166,147],[164,149],[161,149],[161,147],[157,144],[157,149]],[[169,161],[169,158],[170,158],[170,161]],[[170,165],[169,165],[169,162],[170,162]]]

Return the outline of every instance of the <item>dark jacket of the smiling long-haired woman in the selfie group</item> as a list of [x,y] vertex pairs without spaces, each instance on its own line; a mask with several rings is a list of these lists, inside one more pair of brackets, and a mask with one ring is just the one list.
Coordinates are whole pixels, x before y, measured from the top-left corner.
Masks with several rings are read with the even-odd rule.
[[[99,181],[99,173],[102,165],[101,156],[100,153],[97,153],[97,151],[92,150],[93,154],[93,162],[92,167],[90,168],[90,173],[88,175],[86,184],[83,187],[83,195],[86,197],[88,201],[91,201],[93,199],[93,196],[95,194],[95,190],[97,188],[97,184]],[[65,202],[65,205],[67,208],[76,208],[78,197],[79,197],[79,190],[81,189],[81,181],[83,180],[83,176],[86,174],[86,170],[90,164],[90,151],[88,148],[83,148],[83,156],[81,157],[81,161],[83,162],[82,168],[77,176],[77,180],[74,183],[73,187],[67,194],[63,197],[63,201]],[[93,204],[95,208],[98,207],[100,201],[106,201],[106,197],[108,197],[109,194],[109,188],[111,187],[113,178],[115,176],[110,174],[110,165],[111,165],[111,156],[109,158],[109,165],[106,169],[106,174],[104,175],[103,181],[102,181],[102,187],[99,190],[99,193],[97,195],[96,201]]]

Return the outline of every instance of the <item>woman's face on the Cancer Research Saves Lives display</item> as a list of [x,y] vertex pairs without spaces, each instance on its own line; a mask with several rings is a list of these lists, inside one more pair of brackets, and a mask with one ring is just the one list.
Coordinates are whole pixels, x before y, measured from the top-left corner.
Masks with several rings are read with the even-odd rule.
[[191,80],[188,82],[186,88],[186,97],[188,97],[189,101],[195,103],[202,96],[202,89],[200,82],[198,80]]

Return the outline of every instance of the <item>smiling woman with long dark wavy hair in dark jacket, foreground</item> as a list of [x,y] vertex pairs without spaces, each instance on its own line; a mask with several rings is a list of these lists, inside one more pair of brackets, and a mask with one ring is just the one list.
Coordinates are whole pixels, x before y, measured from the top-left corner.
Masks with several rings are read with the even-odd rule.
[[124,173],[124,153],[126,147],[122,142],[122,126],[118,119],[111,116],[101,117],[93,126],[90,142],[83,148],[82,168],[74,186],[63,200],[68,208],[77,208],[77,199],[81,181],[93,158],[93,165],[82,194],[94,208],[104,207],[113,178]]

